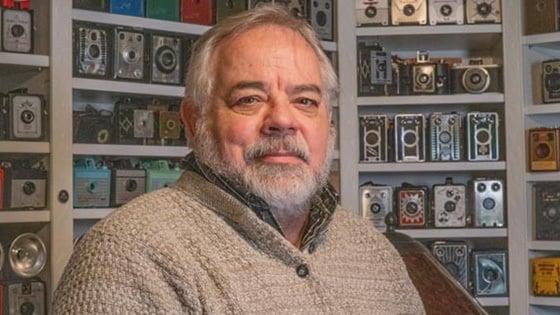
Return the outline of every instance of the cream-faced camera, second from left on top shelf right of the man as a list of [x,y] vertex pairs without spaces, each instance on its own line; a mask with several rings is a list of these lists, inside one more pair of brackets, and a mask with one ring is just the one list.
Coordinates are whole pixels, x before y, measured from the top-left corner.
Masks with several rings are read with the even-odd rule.
[[393,25],[428,23],[427,0],[392,0],[391,19]]

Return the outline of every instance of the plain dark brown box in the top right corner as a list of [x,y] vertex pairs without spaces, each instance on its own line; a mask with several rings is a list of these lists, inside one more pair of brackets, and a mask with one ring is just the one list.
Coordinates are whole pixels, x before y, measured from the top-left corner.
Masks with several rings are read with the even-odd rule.
[[560,30],[558,0],[523,1],[525,34],[552,33]]

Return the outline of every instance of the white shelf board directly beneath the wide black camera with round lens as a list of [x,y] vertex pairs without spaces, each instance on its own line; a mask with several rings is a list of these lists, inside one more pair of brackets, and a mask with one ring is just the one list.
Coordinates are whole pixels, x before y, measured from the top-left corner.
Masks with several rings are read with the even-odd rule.
[[407,95],[407,96],[368,96],[358,97],[358,106],[388,105],[449,105],[503,103],[504,94],[453,94],[453,95]]

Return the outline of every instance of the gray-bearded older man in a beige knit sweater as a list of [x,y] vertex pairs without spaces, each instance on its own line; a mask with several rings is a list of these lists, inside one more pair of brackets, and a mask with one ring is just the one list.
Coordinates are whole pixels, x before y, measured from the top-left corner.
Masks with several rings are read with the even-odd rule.
[[423,313],[395,249],[327,184],[337,82],[309,26],[245,12],[189,64],[184,175],[88,232],[55,313]]

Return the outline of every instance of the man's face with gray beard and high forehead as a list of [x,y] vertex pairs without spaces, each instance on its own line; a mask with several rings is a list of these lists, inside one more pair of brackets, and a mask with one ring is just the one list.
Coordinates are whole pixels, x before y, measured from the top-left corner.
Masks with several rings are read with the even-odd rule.
[[213,68],[205,127],[219,165],[211,166],[273,206],[308,199],[324,184],[332,150],[313,49],[292,30],[261,26],[220,44]]

